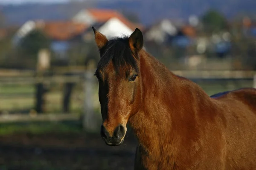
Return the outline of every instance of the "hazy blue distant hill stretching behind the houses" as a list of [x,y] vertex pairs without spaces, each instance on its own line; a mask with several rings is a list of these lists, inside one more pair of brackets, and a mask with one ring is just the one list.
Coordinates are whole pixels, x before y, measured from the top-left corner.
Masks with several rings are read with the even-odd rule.
[[2,6],[8,24],[20,25],[27,20],[68,20],[82,8],[111,8],[136,14],[140,21],[151,24],[161,18],[200,16],[209,8],[231,18],[240,13],[256,15],[256,0],[93,0],[84,3],[24,4]]

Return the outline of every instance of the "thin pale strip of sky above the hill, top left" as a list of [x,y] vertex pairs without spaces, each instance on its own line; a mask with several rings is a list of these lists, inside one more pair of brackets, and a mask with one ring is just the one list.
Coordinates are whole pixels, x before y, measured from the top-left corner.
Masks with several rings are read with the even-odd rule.
[[61,3],[69,0],[0,0],[0,4],[14,4],[19,5],[22,3]]

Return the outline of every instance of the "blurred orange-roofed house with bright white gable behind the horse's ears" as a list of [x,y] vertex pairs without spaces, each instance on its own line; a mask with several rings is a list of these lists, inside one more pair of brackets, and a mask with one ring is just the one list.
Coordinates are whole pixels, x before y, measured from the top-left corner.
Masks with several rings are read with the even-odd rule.
[[[94,26],[107,38],[131,35],[135,28],[143,29],[138,23],[132,23],[118,11],[110,9],[86,9],[79,11],[72,20],[76,23],[85,23]],[[85,40],[92,38],[91,28],[84,34]]]

